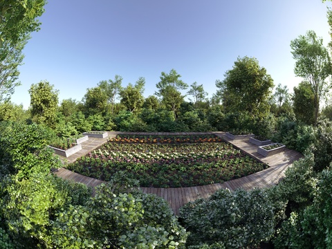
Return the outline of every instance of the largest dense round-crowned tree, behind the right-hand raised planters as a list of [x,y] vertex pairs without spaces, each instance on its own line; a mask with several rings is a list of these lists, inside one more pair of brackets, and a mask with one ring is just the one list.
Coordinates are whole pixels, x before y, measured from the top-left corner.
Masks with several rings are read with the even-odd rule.
[[259,66],[257,59],[238,58],[233,68],[225,73],[225,79],[216,81],[216,86],[226,111],[248,111],[252,117],[268,113],[273,79],[266,68]]

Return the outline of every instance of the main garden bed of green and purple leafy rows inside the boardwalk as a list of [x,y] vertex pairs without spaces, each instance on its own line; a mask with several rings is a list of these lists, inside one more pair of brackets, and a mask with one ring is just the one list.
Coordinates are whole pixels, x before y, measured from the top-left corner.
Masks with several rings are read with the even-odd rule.
[[[178,136],[174,136],[173,141],[177,139]],[[74,172],[104,181],[109,181],[116,172],[125,172],[127,177],[140,181],[142,187],[223,183],[266,167],[226,142],[149,144],[109,141],[67,165]]]

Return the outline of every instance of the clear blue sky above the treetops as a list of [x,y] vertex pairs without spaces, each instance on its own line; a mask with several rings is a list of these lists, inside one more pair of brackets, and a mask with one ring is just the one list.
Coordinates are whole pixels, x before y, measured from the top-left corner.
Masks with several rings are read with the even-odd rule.
[[[320,0],[49,0],[20,66],[21,86],[12,102],[30,105],[31,84],[47,80],[59,102],[81,101],[101,80],[123,77],[122,86],[145,77],[153,95],[161,72],[174,68],[187,84],[215,81],[237,57],[256,57],[275,81],[293,91],[290,43],[306,30],[330,41]],[[183,92],[185,93],[185,91]]]

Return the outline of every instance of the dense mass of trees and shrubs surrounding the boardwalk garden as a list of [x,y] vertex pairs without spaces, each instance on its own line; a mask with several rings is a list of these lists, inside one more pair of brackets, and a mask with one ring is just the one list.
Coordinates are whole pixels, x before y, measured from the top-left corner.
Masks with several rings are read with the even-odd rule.
[[[0,73],[0,248],[332,247],[331,102],[321,109],[331,90],[331,59],[315,32],[291,42],[295,74],[304,78],[293,95],[282,84],[273,92],[266,69],[243,57],[224,80],[216,80],[210,99],[194,82],[185,100],[188,85],[173,69],[161,73],[156,94],[147,98],[144,78],[123,87],[116,75],[87,89],[82,101],[60,104],[54,86],[39,82],[30,88],[26,111],[9,98],[19,84],[21,51],[39,28],[44,4],[0,4],[0,66],[7,68]],[[331,10],[328,20],[332,26]],[[140,192],[128,172],[107,178],[94,196],[85,185],[51,174],[62,163],[46,145],[91,130],[253,132],[304,158],[275,187],[220,190],[185,205],[178,219],[163,199]],[[117,151],[128,146],[118,142]],[[149,146],[154,149],[153,140]]]

